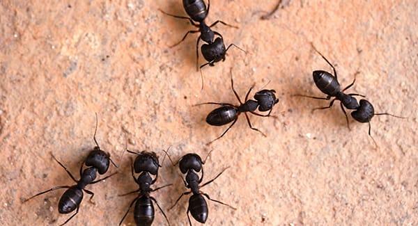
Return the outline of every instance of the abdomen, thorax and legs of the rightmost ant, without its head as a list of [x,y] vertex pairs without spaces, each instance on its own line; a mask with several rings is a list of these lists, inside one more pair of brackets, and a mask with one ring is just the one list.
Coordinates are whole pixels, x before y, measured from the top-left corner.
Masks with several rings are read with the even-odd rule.
[[[346,115],[347,127],[348,127],[348,129],[350,129],[350,123],[348,122],[348,115],[347,115],[346,110],[344,109],[344,107],[346,107],[350,110],[357,110],[357,108],[359,108],[359,103],[357,102],[357,99],[355,99],[355,97],[353,97],[353,96],[360,96],[360,97],[365,97],[365,96],[360,95],[358,93],[350,93],[350,94],[344,93],[344,91],[348,90],[349,88],[351,88],[354,85],[355,78],[350,85],[348,85],[346,88],[341,90],[341,86],[340,86],[339,81],[337,79],[337,74],[336,74],[336,70],[335,70],[334,65],[332,65],[330,63],[330,61],[328,61],[327,58],[325,58],[325,56],[323,56],[323,54],[321,54],[318,50],[316,50],[316,48],[313,45],[312,45],[312,47],[320,56],[322,56],[322,58],[328,63],[328,65],[330,65],[332,67],[332,70],[334,71],[334,75],[332,75],[330,72],[325,72],[323,70],[316,70],[316,71],[313,72],[314,82],[315,82],[316,86],[323,93],[325,93],[327,95],[327,97],[312,97],[312,96],[299,95],[299,94],[293,95],[293,96],[309,97],[309,98],[312,98],[312,99],[326,99],[326,100],[330,100],[331,97],[334,97],[334,99],[331,100],[329,106],[325,106],[325,107],[321,107],[321,108],[314,108],[314,109],[312,109],[312,111],[331,108],[332,105],[334,104],[334,101],[336,99],[338,99],[340,101],[341,111],[343,111],[344,115]],[[358,72],[357,72],[357,74],[358,74]]]

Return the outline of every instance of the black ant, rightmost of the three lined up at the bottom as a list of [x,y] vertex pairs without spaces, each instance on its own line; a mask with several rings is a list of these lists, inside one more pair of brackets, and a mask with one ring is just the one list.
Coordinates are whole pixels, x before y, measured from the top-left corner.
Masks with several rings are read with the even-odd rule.
[[[182,179],[183,179],[183,182],[185,183],[186,188],[189,188],[191,190],[191,191],[182,193],[180,197],[178,197],[176,202],[173,204],[173,206],[170,207],[170,209],[173,209],[173,207],[176,206],[176,204],[178,203],[178,201],[180,201],[183,195],[189,195],[190,193],[192,193],[192,196],[189,197],[189,207],[187,207],[187,219],[189,220],[190,226],[192,226],[192,221],[190,220],[189,212],[192,214],[192,217],[195,220],[197,220],[199,223],[204,224],[206,223],[206,220],[208,219],[208,203],[206,202],[205,197],[203,197],[203,195],[206,196],[208,200],[212,202],[217,202],[219,204],[223,204],[227,207],[230,207],[231,209],[236,210],[235,207],[231,207],[231,205],[225,204],[224,202],[221,202],[218,200],[213,200],[209,197],[208,194],[200,191],[200,188],[203,188],[204,186],[215,181],[215,179],[217,179],[220,175],[222,175],[222,173],[227,168],[229,168],[229,167],[224,168],[224,170],[222,170],[222,172],[220,172],[215,178],[211,179],[210,181],[202,185],[199,185],[203,181],[203,166],[202,165],[206,163],[206,160],[208,159],[208,156],[210,155],[211,152],[212,151],[208,153],[204,161],[202,161],[199,154],[189,153],[181,157],[177,161],[177,163],[173,163],[173,161],[171,160],[171,157],[166,152],[167,156],[169,156],[169,160],[171,161],[171,164],[173,164],[173,166],[176,166],[178,164],[180,171],[183,174],[186,174],[186,179],[183,179],[183,177]],[[199,175],[197,175],[197,172],[200,172],[200,171],[202,171],[202,175],[199,178]]]

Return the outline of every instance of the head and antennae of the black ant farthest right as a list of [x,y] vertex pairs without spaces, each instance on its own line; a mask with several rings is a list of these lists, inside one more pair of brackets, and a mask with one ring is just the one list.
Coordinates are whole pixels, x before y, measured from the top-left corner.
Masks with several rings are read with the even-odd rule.
[[374,113],[373,105],[369,101],[367,101],[366,99],[360,99],[358,108],[355,109],[355,111],[351,112],[351,116],[357,122],[362,122],[362,123],[367,122],[367,123],[369,123],[369,136],[371,137],[371,139],[373,140],[373,143],[377,147],[378,144],[374,140],[373,136],[371,136],[371,134],[370,134],[370,131],[371,131],[370,120],[371,120],[371,118],[373,118],[374,115],[389,115],[389,116],[392,116],[392,117],[395,117],[395,118],[403,118],[403,117],[397,116],[397,115],[392,115],[392,114],[389,114],[389,113]]

